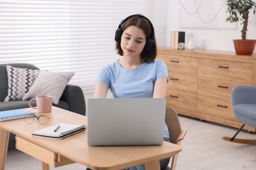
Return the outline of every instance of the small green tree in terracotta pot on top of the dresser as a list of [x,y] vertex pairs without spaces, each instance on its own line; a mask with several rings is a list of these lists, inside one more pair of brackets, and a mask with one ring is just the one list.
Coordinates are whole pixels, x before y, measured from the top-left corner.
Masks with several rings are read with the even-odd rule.
[[226,22],[241,22],[243,29],[241,30],[242,39],[233,40],[236,54],[251,55],[255,48],[256,40],[247,39],[247,25],[249,12],[256,12],[256,4],[251,0],[227,0],[226,5],[228,9],[226,12],[229,14]]

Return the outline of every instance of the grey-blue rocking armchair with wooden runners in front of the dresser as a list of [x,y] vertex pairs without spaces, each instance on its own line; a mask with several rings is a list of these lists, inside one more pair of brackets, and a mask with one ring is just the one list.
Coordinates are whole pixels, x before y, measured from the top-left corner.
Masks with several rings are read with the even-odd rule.
[[242,122],[242,126],[232,138],[223,137],[223,139],[235,143],[256,144],[256,139],[235,139],[245,125],[256,128],[256,87],[236,86],[233,88],[231,104],[234,116]]

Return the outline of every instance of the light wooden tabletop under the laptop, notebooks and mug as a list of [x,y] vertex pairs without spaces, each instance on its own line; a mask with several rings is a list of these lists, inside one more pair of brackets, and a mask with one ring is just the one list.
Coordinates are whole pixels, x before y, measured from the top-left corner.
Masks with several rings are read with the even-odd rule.
[[72,161],[94,169],[121,169],[131,167],[133,165],[168,158],[182,150],[181,146],[165,141],[160,146],[88,146],[87,131],[82,131],[62,140],[32,136],[33,131],[53,126],[60,122],[87,125],[87,116],[75,114],[74,112],[57,107],[53,107],[52,112],[45,113],[45,115],[49,116],[49,122],[46,125],[41,125],[36,120],[33,124],[26,124],[24,119],[19,119],[0,122],[0,128]]

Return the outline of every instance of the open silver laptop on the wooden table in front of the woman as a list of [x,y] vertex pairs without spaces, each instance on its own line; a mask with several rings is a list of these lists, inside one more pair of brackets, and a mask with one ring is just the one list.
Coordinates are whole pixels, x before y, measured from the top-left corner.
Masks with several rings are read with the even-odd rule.
[[163,98],[89,99],[88,144],[160,145],[165,107]]

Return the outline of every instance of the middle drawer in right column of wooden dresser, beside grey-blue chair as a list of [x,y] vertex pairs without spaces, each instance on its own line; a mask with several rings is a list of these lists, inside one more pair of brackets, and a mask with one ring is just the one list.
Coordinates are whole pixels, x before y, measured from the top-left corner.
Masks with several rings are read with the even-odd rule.
[[232,89],[241,84],[240,82],[198,77],[198,94],[230,100]]

